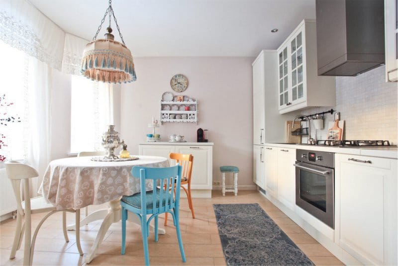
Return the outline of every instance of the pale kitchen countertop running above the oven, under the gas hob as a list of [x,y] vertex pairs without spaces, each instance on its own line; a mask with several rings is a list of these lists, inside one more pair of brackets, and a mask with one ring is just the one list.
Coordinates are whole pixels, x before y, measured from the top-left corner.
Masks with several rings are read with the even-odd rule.
[[340,154],[352,154],[372,157],[382,157],[389,159],[398,159],[398,148],[397,146],[384,146],[377,148],[369,148],[366,146],[362,147],[338,147],[338,146],[324,146],[324,145],[309,145],[309,144],[287,144],[287,143],[266,143],[266,146],[271,147],[283,147],[291,149],[302,149],[312,151],[323,151]]

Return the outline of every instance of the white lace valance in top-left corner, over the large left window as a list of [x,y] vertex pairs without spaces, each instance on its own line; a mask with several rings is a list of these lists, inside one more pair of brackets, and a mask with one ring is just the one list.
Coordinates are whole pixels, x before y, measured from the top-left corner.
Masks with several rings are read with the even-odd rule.
[[61,70],[65,32],[28,1],[0,1],[0,39]]

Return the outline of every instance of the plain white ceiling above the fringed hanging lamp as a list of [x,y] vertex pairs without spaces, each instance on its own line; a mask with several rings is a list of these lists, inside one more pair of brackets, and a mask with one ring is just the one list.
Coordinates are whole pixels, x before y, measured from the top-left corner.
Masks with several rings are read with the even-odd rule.
[[[91,40],[107,0],[30,0],[64,31]],[[256,56],[276,49],[315,0],[113,0],[133,56]],[[102,38],[109,22],[105,19]],[[271,29],[278,28],[277,33]],[[112,20],[115,40],[120,40]]]

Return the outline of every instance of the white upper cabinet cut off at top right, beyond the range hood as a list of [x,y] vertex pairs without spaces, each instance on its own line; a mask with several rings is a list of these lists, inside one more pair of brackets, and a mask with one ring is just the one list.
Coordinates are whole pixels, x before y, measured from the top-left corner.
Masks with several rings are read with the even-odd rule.
[[386,45],[386,81],[397,82],[398,65],[398,0],[384,0]]

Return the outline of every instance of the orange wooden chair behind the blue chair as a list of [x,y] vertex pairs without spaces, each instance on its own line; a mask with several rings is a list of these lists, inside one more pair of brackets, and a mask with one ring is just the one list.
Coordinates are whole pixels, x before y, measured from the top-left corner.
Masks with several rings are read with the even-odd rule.
[[[194,156],[192,156],[192,154],[170,153],[169,157],[170,159],[176,160],[176,164],[180,163],[180,166],[183,167],[181,187],[187,194],[188,204],[192,212],[192,218],[195,219],[194,205],[192,204],[191,196],[191,175],[192,165],[194,163]],[[186,184],[188,184],[188,189],[185,187]],[[167,226],[167,212],[165,214],[165,226]]]

